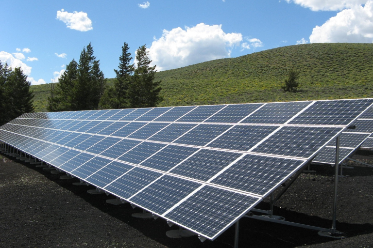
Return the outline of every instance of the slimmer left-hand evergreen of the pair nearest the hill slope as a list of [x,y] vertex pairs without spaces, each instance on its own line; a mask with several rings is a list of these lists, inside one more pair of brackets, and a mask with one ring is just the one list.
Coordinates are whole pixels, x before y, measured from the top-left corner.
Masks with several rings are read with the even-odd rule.
[[128,85],[134,71],[134,66],[130,65],[132,57],[128,50],[128,44],[124,43],[122,55],[119,57],[119,70],[114,69],[116,78],[113,85],[108,87],[102,95],[101,109],[123,109],[127,107]]

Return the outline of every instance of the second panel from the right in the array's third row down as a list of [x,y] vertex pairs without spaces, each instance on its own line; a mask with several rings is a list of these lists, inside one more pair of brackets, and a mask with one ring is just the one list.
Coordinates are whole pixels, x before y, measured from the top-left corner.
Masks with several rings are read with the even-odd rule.
[[240,153],[202,149],[176,166],[170,173],[200,181],[208,181],[241,155]]

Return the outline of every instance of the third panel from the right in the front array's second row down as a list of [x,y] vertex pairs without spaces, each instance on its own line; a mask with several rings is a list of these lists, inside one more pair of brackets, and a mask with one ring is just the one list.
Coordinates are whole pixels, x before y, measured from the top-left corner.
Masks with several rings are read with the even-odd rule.
[[173,143],[204,146],[230,127],[231,125],[199,124]]

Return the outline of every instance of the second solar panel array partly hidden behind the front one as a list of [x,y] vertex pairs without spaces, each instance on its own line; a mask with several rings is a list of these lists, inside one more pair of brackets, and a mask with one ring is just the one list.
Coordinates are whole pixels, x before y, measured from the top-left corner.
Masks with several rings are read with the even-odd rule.
[[[373,148],[373,108],[364,112],[354,123],[355,129],[347,129],[340,136],[339,140],[339,164],[348,156],[351,156],[356,149]],[[320,152],[313,162],[323,164],[335,164],[336,140],[332,140]]]

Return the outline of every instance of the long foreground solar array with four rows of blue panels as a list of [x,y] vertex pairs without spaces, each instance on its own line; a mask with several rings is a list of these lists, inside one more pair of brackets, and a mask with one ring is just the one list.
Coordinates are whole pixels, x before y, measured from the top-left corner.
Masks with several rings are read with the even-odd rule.
[[214,240],[373,99],[27,113],[0,140]]

